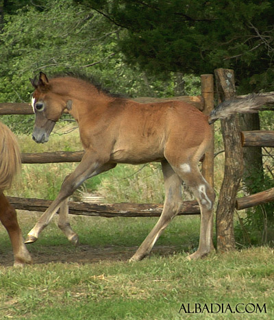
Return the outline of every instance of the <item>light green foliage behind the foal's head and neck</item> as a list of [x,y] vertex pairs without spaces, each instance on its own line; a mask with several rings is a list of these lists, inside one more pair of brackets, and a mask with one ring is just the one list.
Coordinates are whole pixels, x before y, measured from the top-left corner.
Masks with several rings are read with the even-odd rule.
[[[17,3],[17,1],[16,1]],[[0,34],[0,102],[29,102],[33,88],[29,77],[46,73],[80,71],[95,77],[112,93],[136,96],[173,96],[175,75],[163,79],[129,68],[119,51],[125,32],[94,10],[72,0],[50,0],[41,6],[5,14]],[[10,10],[7,10],[10,12]],[[21,30],[21,32],[18,32]],[[186,78],[186,92],[193,77]],[[192,88],[190,89],[192,90]],[[33,117],[3,116],[15,132],[29,132]]]

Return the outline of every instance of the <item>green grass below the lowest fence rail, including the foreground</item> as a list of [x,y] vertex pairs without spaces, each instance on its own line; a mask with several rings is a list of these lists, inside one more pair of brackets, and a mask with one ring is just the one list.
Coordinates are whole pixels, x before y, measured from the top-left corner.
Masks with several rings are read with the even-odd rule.
[[[35,216],[35,214],[34,214]],[[37,217],[18,215],[23,233]],[[138,246],[155,219],[72,219],[82,244],[97,248]],[[58,252],[57,262],[37,263],[24,269],[0,265],[0,319],[272,319],[274,317],[273,249],[260,247],[203,260],[187,260],[197,247],[199,217],[177,217],[156,245],[175,247],[175,253],[152,254],[140,262],[114,261],[105,256],[98,262],[64,262],[61,256],[77,254],[51,223],[39,240],[28,248],[35,257]],[[10,253],[8,236],[0,228],[0,251]],[[186,314],[184,304],[266,304],[264,315]],[[240,305],[242,306],[242,305]]]

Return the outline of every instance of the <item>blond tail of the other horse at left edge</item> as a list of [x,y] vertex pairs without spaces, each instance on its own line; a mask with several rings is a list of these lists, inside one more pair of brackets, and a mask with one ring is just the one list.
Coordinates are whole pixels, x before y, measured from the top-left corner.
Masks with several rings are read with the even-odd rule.
[[21,170],[21,153],[14,134],[0,122],[0,190],[10,188]]

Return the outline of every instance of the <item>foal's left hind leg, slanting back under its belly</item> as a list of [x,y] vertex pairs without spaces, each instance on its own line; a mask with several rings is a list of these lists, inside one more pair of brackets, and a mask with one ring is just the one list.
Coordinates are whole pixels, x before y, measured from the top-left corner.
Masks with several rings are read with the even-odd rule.
[[169,225],[171,220],[179,212],[182,206],[182,180],[173,171],[168,162],[162,162],[162,171],[164,174],[164,209],[158,223],[153,227],[147,238],[142,242],[142,245],[136,251],[129,261],[142,260],[147,256],[155,242],[158,240],[160,234]]

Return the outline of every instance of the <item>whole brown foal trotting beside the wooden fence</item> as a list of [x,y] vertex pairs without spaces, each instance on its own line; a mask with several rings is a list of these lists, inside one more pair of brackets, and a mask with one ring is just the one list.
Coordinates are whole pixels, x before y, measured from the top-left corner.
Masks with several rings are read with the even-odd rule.
[[[75,171],[64,180],[56,199],[29,232],[26,243],[37,240],[60,208],[58,225],[76,244],[78,236],[69,225],[67,199],[84,180],[114,168],[117,163],[160,161],[164,208],[158,223],[131,260],[147,256],[179,212],[182,181],[192,190],[201,210],[199,247],[190,258],[201,258],[214,249],[211,238],[214,190],[201,175],[198,163],[212,141],[209,121],[221,117],[221,112],[209,118],[181,101],[136,103],[112,97],[94,84],[75,77],[48,79],[45,73],[40,73],[38,82],[31,82],[35,88],[32,106],[36,114],[33,131],[36,143],[47,142],[62,113],[69,112],[79,125],[85,153]],[[225,112],[227,116],[227,108]]]

